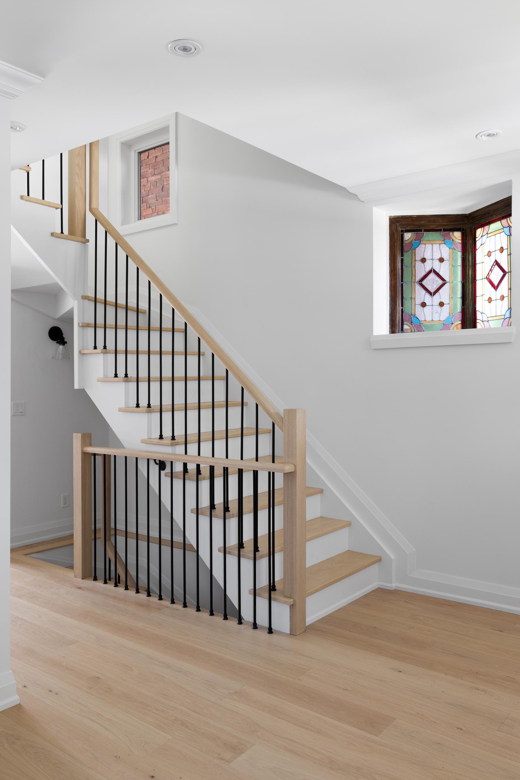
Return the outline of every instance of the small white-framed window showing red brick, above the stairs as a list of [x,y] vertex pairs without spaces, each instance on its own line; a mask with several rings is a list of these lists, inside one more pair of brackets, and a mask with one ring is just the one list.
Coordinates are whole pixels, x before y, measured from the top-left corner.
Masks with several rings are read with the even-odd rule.
[[109,211],[123,234],[177,222],[175,116],[111,136]]

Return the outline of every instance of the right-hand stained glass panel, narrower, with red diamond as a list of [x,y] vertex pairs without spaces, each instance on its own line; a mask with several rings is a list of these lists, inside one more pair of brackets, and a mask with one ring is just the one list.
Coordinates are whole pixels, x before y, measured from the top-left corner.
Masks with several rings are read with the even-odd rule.
[[477,328],[511,325],[511,217],[475,231]]

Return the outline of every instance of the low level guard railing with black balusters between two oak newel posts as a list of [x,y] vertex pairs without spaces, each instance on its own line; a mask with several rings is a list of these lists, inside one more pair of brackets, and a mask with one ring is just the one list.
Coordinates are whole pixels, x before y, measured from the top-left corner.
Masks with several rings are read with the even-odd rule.
[[[150,544],[157,544],[157,571],[158,571],[158,587],[157,587],[157,599],[163,600],[163,572],[162,572],[162,547],[170,547],[170,603],[175,604],[175,572],[174,572],[174,557],[173,549],[175,547],[182,548],[182,607],[186,608],[186,551],[194,551],[196,553],[196,612],[200,612],[200,582],[199,582],[199,548],[197,546],[189,544],[186,541],[186,473],[188,465],[195,465],[200,467],[201,465],[209,466],[210,469],[225,468],[238,470],[239,477],[242,477],[244,471],[253,471],[253,475],[258,473],[268,473],[274,475],[275,473],[281,473],[284,477],[284,489],[288,491],[291,500],[288,505],[294,509],[288,513],[286,523],[284,524],[284,537],[285,534],[290,537],[288,539],[288,550],[291,550],[291,554],[286,556],[284,566],[287,566],[288,583],[294,587],[293,603],[291,605],[291,633],[301,633],[305,630],[305,590],[301,591],[301,583],[299,582],[298,567],[303,566],[305,569],[305,527],[295,530],[295,525],[298,525],[297,515],[299,510],[302,509],[301,502],[299,502],[299,492],[305,495],[304,489],[301,490],[301,485],[305,486],[305,413],[303,410],[285,410],[285,424],[287,426],[286,434],[286,450],[288,453],[293,453],[295,456],[295,463],[290,463],[287,460],[277,463],[271,463],[269,461],[255,462],[251,460],[243,459],[228,459],[228,458],[214,458],[210,456],[195,456],[179,455],[168,453],[162,455],[161,458],[157,458],[157,452],[147,452],[140,449],[122,449],[113,447],[97,447],[92,445],[92,436],[90,433],[74,434],[73,437],[73,470],[74,470],[74,576],[79,579],[87,579],[92,577],[93,580],[97,580],[97,573],[100,569],[103,572],[103,583],[108,584],[111,581],[111,566],[114,566],[114,587],[119,587],[122,584],[124,590],[132,589],[136,594],[141,593],[141,587],[145,589],[146,595],[151,596],[150,590]],[[128,517],[129,517],[129,491],[128,491],[128,473],[129,469],[132,469],[132,465],[129,464],[129,460],[134,460],[135,473],[136,473],[136,486],[135,486],[135,514],[136,514],[136,530],[135,533],[129,532],[128,529]],[[140,534],[137,518],[139,515],[139,495],[138,495],[138,483],[137,473],[138,464],[140,460],[145,459],[147,461],[147,475],[150,475],[150,461],[157,466],[158,471],[158,520],[159,520],[159,536],[158,538],[150,537],[150,479],[147,480],[147,533]],[[100,463],[100,469],[97,468],[97,462]],[[170,534],[168,538],[162,537],[161,530],[161,474],[166,468],[166,462],[181,463],[182,468],[182,542],[175,542],[173,534],[173,521],[174,521],[174,480],[171,480],[170,485]],[[118,467],[119,463],[119,467]],[[99,471],[99,474],[98,474]],[[123,477],[124,484],[124,527],[119,528],[118,524],[118,509],[117,509],[117,475],[119,472],[119,478]],[[122,472],[122,473],[121,473]],[[114,488],[112,490],[112,482]],[[197,493],[198,495],[198,493]],[[133,497],[130,497],[130,504]],[[101,533],[97,534],[97,505],[101,505]],[[113,510],[113,513],[112,513]],[[198,527],[198,513],[196,517]],[[236,536],[240,540],[240,512],[237,514],[237,526]],[[301,525],[301,523],[299,524]],[[222,544],[223,544],[223,562],[224,562],[224,601],[223,601],[223,619],[228,619],[228,594],[226,588],[225,579],[225,559],[227,540],[226,540],[226,527],[227,521],[223,519],[222,523]],[[94,536],[93,536],[94,532]],[[209,555],[210,555],[210,572],[212,572],[212,558],[213,547],[211,544],[212,536],[212,507],[209,507],[209,528],[208,536],[210,537]],[[101,538],[102,546],[102,562],[97,560],[97,537]],[[112,537],[114,541],[112,542]],[[118,551],[118,537],[121,538],[121,543]],[[93,543],[94,539],[94,543]],[[129,571],[129,540],[134,544],[134,554],[136,561],[135,577],[133,573]],[[271,535],[268,534],[268,555],[271,554]],[[295,549],[293,544],[297,541],[297,544],[302,546],[303,556],[300,555],[300,559],[295,558]],[[140,571],[140,541],[146,544],[146,571],[143,573]],[[197,544],[199,543],[199,534],[197,530]],[[272,540],[274,548],[274,538]],[[122,547],[121,547],[122,544]],[[237,573],[237,610],[238,618],[237,624],[242,625],[242,579],[240,570],[240,544],[235,545],[236,555],[238,558],[238,573]],[[300,550],[301,553],[301,550]],[[271,588],[271,566],[268,566],[269,570],[269,583],[268,588]],[[253,629],[257,628],[256,625],[256,587],[255,587],[256,566],[253,567]],[[251,592],[251,591],[249,591]],[[271,624],[271,601],[269,601],[269,617],[267,633],[273,633]],[[210,576],[210,593],[209,593],[209,614],[214,615],[213,605],[213,578]],[[295,608],[295,609],[293,609]]]

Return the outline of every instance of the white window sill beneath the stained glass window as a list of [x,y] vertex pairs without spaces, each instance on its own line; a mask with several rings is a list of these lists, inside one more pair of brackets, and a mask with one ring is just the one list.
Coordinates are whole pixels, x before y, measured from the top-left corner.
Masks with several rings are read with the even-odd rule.
[[507,344],[515,338],[515,328],[468,328],[465,331],[391,333],[370,336],[372,349],[414,346],[461,346],[462,344]]

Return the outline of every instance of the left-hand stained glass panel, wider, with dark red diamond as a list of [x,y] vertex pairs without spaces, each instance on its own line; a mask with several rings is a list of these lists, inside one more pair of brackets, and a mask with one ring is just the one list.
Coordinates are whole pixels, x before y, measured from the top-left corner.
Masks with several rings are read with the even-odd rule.
[[462,233],[402,233],[403,332],[462,327]]

